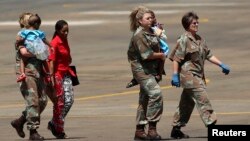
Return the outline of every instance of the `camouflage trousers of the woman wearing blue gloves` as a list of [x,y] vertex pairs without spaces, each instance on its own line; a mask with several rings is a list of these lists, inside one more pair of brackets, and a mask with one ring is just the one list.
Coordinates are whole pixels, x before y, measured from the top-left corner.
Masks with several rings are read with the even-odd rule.
[[183,89],[179,106],[174,114],[173,126],[185,126],[195,105],[205,126],[217,120],[205,88]]

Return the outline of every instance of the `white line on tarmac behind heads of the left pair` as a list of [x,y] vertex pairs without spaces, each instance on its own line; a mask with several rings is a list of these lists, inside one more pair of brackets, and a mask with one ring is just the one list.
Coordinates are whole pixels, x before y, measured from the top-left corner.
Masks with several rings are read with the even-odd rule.
[[[104,20],[92,20],[92,21],[68,21],[70,26],[87,26],[87,25],[99,25],[106,23]],[[43,26],[55,26],[56,21],[43,21]],[[17,21],[0,21],[0,26],[18,26]]]

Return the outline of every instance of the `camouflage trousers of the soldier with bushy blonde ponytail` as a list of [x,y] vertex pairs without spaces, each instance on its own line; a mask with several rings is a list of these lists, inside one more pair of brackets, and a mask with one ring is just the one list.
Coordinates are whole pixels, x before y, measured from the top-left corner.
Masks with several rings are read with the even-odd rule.
[[140,93],[136,124],[145,125],[148,122],[158,122],[163,112],[163,97],[160,86],[154,76],[138,82],[140,83]]

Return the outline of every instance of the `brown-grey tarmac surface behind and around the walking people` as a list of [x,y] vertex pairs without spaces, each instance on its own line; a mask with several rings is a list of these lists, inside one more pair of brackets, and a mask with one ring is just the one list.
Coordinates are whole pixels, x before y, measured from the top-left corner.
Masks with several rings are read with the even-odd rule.
[[[11,120],[20,116],[24,100],[14,74],[14,40],[19,30],[18,16],[22,12],[38,13],[41,30],[51,39],[54,24],[59,19],[69,22],[69,44],[73,64],[77,66],[80,85],[74,88],[75,102],[65,122],[65,141],[131,141],[135,131],[135,114],[139,87],[126,89],[132,78],[127,61],[131,37],[128,15],[138,6],[155,11],[164,24],[168,43],[175,46],[183,33],[181,17],[194,11],[200,17],[199,34],[207,41],[213,54],[229,65],[225,76],[221,69],[206,63],[207,92],[218,116],[218,124],[250,124],[250,1],[248,0],[2,0],[0,1],[0,139],[19,138]],[[164,112],[158,124],[163,140],[170,138],[172,116],[179,102],[181,88],[171,87],[172,65],[166,61],[166,77],[160,82],[164,97]],[[41,115],[38,129],[46,140],[56,140],[47,130],[52,117],[48,103]],[[194,109],[182,130],[189,141],[206,141],[207,128]]]

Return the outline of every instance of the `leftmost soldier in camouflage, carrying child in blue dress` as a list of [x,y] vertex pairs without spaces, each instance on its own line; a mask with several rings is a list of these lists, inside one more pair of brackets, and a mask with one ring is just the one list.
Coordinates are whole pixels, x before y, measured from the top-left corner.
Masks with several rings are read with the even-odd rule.
[[[27,24],[27,17],[31,13],[24,13],[20,16],[21,28]],[[40,115],[47,105],[47,96],[44,89],[44,81],[42,76],[42,61],[36,59],[31,53],[27,52],[23,45],[16,44],[16,75],[20,75],[20,59],[21,55],[28,57],[25,66],[25,73],[27,78],[25,81],[20,82],[20,91],[24,97],[26,108],[22,112],[20,118],[13,120],[11,125],[16,129],[18,135],[22,138],[25,137],[23,125],[27,122],[27,129],[30,130],[30,140],[44,140],[36,131],[40,125]]]

